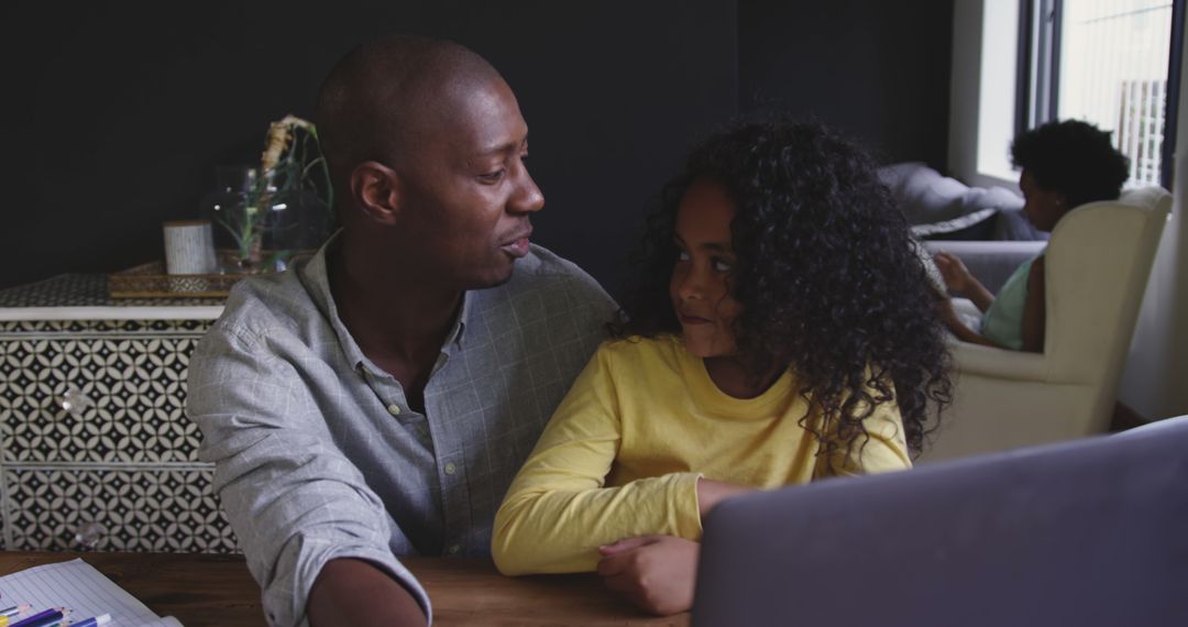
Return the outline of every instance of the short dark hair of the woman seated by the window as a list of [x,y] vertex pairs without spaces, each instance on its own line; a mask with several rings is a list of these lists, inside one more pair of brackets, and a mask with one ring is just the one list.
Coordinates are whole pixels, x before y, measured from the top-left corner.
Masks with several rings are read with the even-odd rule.
[[1130,178],[1130,159],[1110,141],[1110,132],[1082,122],[1048,122],[1015,138],[1011,163],[1047,191],[1064,195],[1068,207],[1111,201]]

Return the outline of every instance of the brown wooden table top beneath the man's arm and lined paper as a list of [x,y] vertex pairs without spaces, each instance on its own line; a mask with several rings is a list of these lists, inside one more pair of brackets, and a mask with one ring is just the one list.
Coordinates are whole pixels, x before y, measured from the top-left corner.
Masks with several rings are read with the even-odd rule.
[[[260,589],[242,556],[0,551],[0,575],[83,558],[162,616],[185,627],[265,625]],[[510,578],[486,559],[417,557],[404,564],[434,603],[434,625],[687,626],[688,615],[647,616],[594,575]]]

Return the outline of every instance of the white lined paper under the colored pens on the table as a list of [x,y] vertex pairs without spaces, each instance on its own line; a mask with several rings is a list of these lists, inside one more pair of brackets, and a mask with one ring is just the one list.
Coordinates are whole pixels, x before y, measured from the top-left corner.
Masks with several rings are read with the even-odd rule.
[[110,614],[110,627],[182,627],[172,616],[153,614],[82,559],[33,566],[0,577],[0,593],[5,606],[32,606],[27,613],[14,616],[13,622],[43,609],[65,607],[70,609],[68,620],[71,622]]

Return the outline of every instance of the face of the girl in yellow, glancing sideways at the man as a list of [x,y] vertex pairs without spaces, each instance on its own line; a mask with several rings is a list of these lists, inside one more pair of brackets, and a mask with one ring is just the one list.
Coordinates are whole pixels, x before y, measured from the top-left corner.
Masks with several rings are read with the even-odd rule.
[[726,188],[709,179],[695,180],[685,190],[676,214],[680,251],[669,296],[684,346],[699,357],[737,353],[734,319],[742,306],[731,296],[734,248],[731,220],[734,201]]

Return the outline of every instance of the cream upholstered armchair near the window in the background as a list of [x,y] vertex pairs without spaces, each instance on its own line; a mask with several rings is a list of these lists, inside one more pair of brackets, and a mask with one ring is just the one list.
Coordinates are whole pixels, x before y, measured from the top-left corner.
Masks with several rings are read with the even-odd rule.
[[1053,230],[1044,352],[954,342],[955,399],[922,462],[1106,430],[1171,196],[1088,203]]

